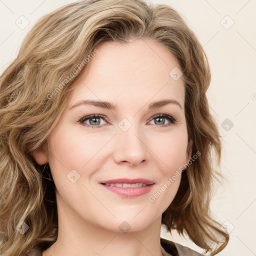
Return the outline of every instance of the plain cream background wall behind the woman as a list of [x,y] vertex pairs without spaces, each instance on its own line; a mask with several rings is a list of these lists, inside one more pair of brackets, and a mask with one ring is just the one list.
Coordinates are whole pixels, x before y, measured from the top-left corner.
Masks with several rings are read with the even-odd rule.
[[[70,2],[0,0],[0,73],[14,59],[35,21]],[[256,1],[151,2],[169,4],[185,18],[210,63],[212,79],[207,96],[222,135],[221,173],[228,180],[216,186],[211,203],[212,216],[230,235],[227,247],[218,255],[256,255]],[[20,27],[26,22],[26,27]],[[176,232],[171,236],[162,228],[161,236],[201,251]]]

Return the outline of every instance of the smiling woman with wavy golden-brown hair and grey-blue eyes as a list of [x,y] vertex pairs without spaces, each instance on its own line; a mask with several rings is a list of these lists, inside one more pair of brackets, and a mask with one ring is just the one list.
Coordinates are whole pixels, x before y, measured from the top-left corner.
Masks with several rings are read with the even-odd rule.
[[0,253],[200,255],[161,225],[221,251],[209,82],[168,5],[83,0],[43,16],[0,77]]

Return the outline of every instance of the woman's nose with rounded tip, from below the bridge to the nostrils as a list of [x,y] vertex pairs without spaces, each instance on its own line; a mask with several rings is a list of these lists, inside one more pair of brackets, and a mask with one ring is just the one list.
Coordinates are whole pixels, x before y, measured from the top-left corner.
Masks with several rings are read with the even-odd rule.
[[146,162],[149,157],[148,147],[146,146],[146,136],[135,124],[123,131],[117,129],[114,138],[113,158],[118,164],[135,166]]

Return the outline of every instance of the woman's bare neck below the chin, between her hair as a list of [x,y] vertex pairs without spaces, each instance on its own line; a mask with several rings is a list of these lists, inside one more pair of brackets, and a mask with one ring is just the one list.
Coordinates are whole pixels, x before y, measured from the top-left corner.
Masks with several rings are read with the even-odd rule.
[[[161,217],[142,230],[119,230],[118,224],[111,230],[75,215],[57,195],[58,237],[42,256],[162,256],[166,255],[160,245]],[[60,206],[60,207],[59,207]],[[59,210],[61,208],[61,211]],[[123,219],[121,227],[128,226]],[[116,219],[113,223],[116,223]],[[121,231],[122,230],[122,231]],[[132,228],[130,229],[132,230]]]

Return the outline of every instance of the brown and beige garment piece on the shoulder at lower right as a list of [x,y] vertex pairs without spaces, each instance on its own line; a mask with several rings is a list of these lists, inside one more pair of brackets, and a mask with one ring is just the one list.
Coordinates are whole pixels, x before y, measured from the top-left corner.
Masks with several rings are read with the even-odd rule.
[[161,238],[161,246],[171,256],[202,256],[203,254],[180,243]]

